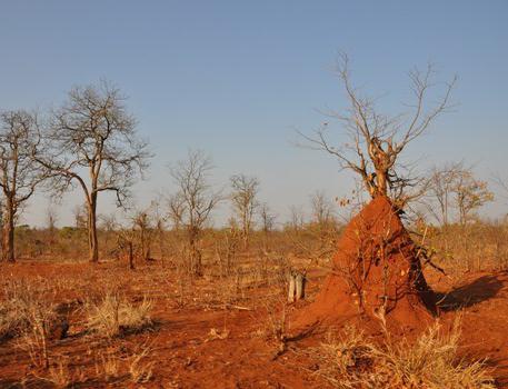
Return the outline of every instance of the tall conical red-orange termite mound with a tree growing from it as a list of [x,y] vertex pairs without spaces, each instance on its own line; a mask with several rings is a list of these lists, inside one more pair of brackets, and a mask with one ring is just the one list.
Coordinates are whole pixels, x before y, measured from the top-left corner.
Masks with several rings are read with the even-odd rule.
[[436,315],[436,296],[418,257],[390,200],[375,198],[346,227],[331,272],[316,300],[297,312],[292,328],[351,319],[373,319],[392,329],[421,327]]

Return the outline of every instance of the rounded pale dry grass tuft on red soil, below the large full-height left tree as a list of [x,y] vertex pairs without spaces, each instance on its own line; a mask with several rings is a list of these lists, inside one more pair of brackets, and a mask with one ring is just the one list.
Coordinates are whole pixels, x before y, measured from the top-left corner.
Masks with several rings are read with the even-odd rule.
[[150,300],[143,298],[139,305],[133,305],[119,292],[108,292],[98,302],[89,301],[84,310],[87,328],[107,338],[141,331],[153,323]]

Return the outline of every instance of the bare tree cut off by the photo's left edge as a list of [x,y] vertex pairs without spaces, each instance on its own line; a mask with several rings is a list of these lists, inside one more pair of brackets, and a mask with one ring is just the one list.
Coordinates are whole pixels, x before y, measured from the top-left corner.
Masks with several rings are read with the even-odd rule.
[[32,159],[41,151],[37,116],[23,110],[1,112],[0,126],[2,259],[14,261],[14,225],[20,208],[48,174],[46,169]]

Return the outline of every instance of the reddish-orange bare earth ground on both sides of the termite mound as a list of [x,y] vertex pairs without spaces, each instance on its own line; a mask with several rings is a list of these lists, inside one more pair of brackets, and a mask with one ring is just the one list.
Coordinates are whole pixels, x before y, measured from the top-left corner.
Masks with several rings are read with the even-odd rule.
[[[309,305],[322,285],[322,270],[311,270]],[[217,300],[210,280],[195,280],[187,295],[178,273],[161,263],[126,269],[124,263],[20,262],[2,266],[2,291],[13,280],[40,288],[40,298],[66,307],[69,331],[48,345],[50,369],[34,366],[22,338],[0,343],[1,388],[330,388],[317,373],[319,360],[307,352],[328,333],[280,341],[277,326],[291,329],[297,309],[288,306],[275,285],[248,289],[233,303]],[[460,352],[488,358],[500,387],[508,387],[508,273],[469,275],[450,286],[428,278],[448,293],[442,321],[451,323],[462,307]],[[87,329],[86,301],[104,289],[121,291],[132,306],[149,300],[151,326],[112,338]],[[442,295],[440,295],[442,296]],[[4,296],[2,295],[2,299]],[[298,307],[300,310],[301,307]],[[338,329],[341,330],[340,328]]]

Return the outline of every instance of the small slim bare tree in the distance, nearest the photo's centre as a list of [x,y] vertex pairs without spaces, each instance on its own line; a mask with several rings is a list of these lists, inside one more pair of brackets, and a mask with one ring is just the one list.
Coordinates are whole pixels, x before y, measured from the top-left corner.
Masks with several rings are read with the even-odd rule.
[[231,177],[231,202],[232,209],[240,221],[241,237],[243,247],[248,247],[250,231],[252,229],[252,219],[257,208],[259,180],[256,177],[248,177],[246,174],[236,174]]

